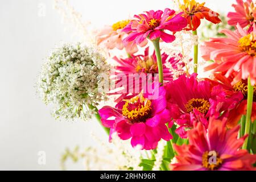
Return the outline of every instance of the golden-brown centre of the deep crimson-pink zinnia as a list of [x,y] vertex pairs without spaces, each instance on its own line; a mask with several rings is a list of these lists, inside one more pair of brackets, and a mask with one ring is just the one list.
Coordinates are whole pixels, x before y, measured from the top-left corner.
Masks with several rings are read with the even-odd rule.
[[185,105],[185,108],[188,113],[192,112],[193,109],[196,109],[200,113],[205,114],[210,108],[210,102],[204,100],[203,98],[192,98],[192,100],[188,101],[188,103]]

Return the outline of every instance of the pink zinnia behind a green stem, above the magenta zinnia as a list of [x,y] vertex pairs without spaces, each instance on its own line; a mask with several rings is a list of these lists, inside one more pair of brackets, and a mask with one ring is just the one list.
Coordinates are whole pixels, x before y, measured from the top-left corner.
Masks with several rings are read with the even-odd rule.
[[[142,90],[145,93],[147,92],[147,83],[151,81],[149,79],[152,78],[152,81],[159,80],[158,77],[156,78],[158,76],[158,63],[155,52],[150,56],[148,49],[148,47],[145,49],[144,55],[131,55],[127,59],[114,57],[114,60],[119,64],[115,67],[115,89],[118,91],[110,94],[121,94],[115,102],[123,100],[128,94],[135,96]],[[166,53],[162,53],[164,82],[172,80],[174,70],[180,74],[184,73],[182,70],[184,63],[178,59],[180,56],[170,57]],[[172,66],[172,71],[166,67],[166,63]]]

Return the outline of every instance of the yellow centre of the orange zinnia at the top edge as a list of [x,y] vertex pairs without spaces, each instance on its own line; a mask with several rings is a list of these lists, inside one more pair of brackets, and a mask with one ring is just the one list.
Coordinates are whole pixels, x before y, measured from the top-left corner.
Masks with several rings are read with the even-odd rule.
[[205,2],[198,3],[195,0],[184,0],[183,2],[184,2],[184,5],[181,5],[181,3],[179,2],[179,7],[188,15],[193,15],[197,11],[200,11],[200,9],[205,5]]

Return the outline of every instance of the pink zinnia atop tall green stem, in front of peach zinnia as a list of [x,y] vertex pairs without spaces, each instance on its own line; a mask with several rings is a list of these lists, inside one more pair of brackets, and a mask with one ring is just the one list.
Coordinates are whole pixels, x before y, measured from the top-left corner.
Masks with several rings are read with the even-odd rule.
[[146,11],[146,14],[135,15],[133,20],[123,28],[123,31],[130,33],[123,42],[128,44],[134,42],[141,44],[145,39],[150,40],[162,39],[166,43],[171,43],[175,40],[174,35],[167,34],[164,30],[177,32],[183,30],[188,22],[180,14],[174,15],[175,11],[165,9],[164,12]]

